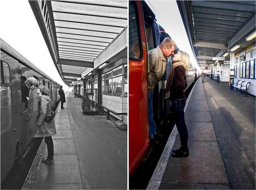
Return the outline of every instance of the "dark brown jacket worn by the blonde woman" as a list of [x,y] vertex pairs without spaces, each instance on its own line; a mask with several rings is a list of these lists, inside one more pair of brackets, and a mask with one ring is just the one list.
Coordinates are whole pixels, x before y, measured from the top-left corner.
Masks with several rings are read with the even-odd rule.
[[183,66],[177,66],[173,71],[173,81],[170,87],[171,100],[180,100],[185,98],[184,90],[186,87],[186,71]]

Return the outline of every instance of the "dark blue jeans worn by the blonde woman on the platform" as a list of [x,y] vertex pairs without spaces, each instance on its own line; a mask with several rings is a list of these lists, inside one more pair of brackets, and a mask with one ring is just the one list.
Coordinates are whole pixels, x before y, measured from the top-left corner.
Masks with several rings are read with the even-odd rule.
[[176,123],[177,130],[181,139],[181,146],[187,147],[187,126],[185,123],[184,108],[186,105],[186,98],[182,100],[172,101],[172,113]]

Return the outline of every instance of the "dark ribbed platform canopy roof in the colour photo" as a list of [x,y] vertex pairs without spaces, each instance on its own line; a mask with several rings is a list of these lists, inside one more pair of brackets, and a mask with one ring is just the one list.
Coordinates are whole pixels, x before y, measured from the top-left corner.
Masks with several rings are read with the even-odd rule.
[[[177,1],[177,5],[199,66],[232,48],[233,38],[242,39],[255,31],[255,1],[194,0]],[[235,36],[239,31],[244,32]]]

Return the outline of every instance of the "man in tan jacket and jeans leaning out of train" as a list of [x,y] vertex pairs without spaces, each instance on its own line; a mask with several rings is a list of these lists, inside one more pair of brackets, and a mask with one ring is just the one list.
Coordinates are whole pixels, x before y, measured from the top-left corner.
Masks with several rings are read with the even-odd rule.
[[153,117],[153,90],[157,82],[162,78],[166,70],[167,57],[174,54],[177,48],[176,43],[171,38],[164,38],[157,48],[151,49],[148,52],[148,70],[147,70],[147,90],[148,90],[148,105],[149,105],[149,134],[151,143],[157,144],[154,139],[156,136],[156,124]]

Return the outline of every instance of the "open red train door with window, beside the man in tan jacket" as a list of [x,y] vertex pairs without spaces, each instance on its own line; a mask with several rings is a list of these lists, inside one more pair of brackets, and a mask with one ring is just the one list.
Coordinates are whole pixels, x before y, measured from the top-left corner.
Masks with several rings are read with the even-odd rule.
[[129,174],[149,147],[147,48],[141,1],[129,1]]

